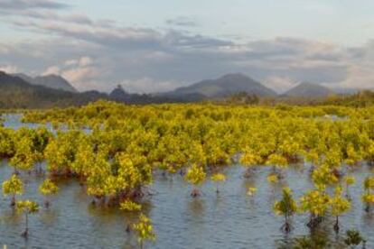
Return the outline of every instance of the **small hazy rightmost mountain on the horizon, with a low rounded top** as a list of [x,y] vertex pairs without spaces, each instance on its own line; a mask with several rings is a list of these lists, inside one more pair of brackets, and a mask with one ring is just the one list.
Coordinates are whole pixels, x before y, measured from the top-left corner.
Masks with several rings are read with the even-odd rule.
[[330,88],[323,87],[318,84],[304,82],[286,91],[284,97],[327,97],[332,95]]

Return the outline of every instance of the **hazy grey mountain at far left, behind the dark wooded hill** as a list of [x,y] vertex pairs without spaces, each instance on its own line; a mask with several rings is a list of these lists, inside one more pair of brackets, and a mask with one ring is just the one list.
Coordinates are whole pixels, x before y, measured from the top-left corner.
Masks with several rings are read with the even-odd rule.
[[37,76],[32,78],[25,74],[14,74],[14,76],[22,78],[24,81],[37,86],[43,86],[46,88],[60,89],[72,93],[78,92],[76,88],[73,88],[68,80],[62,78],[58,75],[46,75],[46,76]]

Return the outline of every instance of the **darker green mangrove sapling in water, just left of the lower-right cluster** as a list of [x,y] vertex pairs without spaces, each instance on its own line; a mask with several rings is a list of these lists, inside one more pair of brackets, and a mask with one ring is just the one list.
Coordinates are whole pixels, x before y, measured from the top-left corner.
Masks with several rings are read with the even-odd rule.
[[285,224],[282,226],[282,230],[285,233],[291,232],[290,218],[297,211],[297,206],[294,198],[292,198],[292,191],[289,188],[283,189],[283,197],[281,200],[276,201],[274,205],[274,211],[278,216],[285,217]]

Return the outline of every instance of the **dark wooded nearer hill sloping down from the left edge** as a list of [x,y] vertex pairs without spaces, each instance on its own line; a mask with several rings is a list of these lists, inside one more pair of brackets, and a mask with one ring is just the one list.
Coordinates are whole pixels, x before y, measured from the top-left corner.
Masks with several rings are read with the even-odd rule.
[[128,94],[122,87],[115,88],[109,95],[95,90],[71,92],[33,85],[23,78],[24,75],[21,78],[0,71],[0,109],[82,106],[98,99],[114,100],[126,104],[191,102],[183,97]]

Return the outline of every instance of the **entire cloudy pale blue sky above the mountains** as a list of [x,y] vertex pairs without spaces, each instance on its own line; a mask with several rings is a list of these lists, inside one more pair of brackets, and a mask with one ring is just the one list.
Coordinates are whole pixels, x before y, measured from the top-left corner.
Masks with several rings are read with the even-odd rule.
[[0,70],[159,92],[242,72],[374,88],[372,0],[0,0]]

